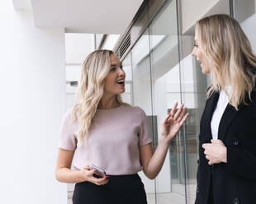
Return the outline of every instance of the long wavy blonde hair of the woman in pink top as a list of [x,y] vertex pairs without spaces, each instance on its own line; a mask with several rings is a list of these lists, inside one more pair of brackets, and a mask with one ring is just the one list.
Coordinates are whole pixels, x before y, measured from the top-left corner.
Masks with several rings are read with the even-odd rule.
[[[114,54],[111,50],[96,50],[82,63],[77,92],[78,104],[73,107],[73,122],[78,121],[80,125],[79,146],[83,146],[84,139],[87,144],[92,118],[104,93],[105,78],[111,70],[111,54]],[[116,100],[123,104],[121,95],[116,95]]]

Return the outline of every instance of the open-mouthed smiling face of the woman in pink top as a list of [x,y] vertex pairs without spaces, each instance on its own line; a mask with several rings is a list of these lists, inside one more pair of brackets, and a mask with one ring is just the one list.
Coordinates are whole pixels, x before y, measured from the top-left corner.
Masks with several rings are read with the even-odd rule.
[[125,92],[126,72],[116,54],[111,54],[111,69],[105,78],[104,95],[118,95]]

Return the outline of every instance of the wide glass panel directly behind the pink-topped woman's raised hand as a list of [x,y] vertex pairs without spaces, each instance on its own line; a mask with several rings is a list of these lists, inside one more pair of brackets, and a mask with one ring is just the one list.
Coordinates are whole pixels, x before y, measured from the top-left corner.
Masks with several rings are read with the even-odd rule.
[[[173,104],[181,103],[176,11],[176,1],[169,1],[149,26],[153,114],[158,134]],[[185,189],[183,134],[179,133],[156,178],[157,203],[186,203]]]

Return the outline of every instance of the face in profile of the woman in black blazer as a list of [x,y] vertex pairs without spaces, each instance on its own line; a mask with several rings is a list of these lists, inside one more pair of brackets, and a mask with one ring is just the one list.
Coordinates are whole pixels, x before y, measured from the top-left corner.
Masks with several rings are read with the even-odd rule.
[[201,42],[200,42],[200,36],[198,36],[198,32],[196,29],[196,35],[195,35],[195,39],[194,39],[194,49],[192,50],[192,56],[197,57],[197,60],[200,63],[201,66],[201,72],[204,74],[208,74],[210,73],[210,68],[208,65],[208,62],[206,60],[206,57],[203,54],[203,50],[201,47]]

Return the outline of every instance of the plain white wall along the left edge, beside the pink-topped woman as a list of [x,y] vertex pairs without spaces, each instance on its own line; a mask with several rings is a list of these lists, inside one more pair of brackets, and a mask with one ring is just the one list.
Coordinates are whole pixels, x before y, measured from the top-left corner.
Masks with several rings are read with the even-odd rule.
[[0,1],[1,203],[67,203],[55,180],[65,110],[64,29],[36,28]]

